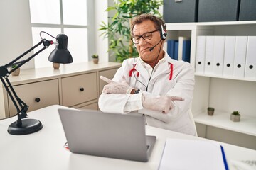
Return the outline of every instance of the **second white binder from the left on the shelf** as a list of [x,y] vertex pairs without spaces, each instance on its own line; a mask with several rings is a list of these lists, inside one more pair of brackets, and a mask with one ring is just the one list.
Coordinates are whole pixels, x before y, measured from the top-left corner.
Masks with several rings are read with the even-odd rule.
[[214,36],[206,36],[205,74],[213,74]]

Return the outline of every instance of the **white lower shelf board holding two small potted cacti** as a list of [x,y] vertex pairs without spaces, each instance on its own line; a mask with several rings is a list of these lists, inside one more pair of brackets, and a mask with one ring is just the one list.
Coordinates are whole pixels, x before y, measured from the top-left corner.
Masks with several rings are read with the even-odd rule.
[[212,116],[207,113],[194,115],[194,120],[196,123],[256,136],[256,117],[241,115],[240,122],[233,122],[230,113],[215,111]]

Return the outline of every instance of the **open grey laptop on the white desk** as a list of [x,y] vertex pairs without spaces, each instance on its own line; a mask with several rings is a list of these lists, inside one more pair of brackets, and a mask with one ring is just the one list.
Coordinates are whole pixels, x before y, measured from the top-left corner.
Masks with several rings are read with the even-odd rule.
[[145,135],[142,115],[58,109],[70,152],[147,162],[156,136]]

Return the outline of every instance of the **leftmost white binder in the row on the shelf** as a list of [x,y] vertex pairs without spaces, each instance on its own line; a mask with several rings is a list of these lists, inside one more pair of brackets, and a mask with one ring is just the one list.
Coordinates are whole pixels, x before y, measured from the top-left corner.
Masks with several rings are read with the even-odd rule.
[[206,56],[206,36],[198,36],[196,39],[196,73],[204,72]]

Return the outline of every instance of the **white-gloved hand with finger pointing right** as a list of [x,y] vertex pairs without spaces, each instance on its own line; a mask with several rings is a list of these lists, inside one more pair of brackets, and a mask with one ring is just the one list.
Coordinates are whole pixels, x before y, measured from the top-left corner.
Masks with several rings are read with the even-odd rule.
[[142,105],[154,111],[162,111],[169,113],[174,108],[173,101],[183,101],[184,99],[178,96],[153,96],[152,94],[142,94]]

